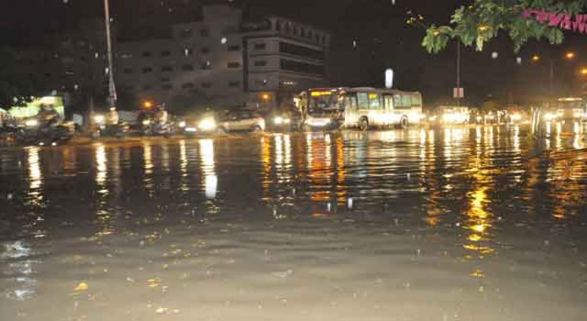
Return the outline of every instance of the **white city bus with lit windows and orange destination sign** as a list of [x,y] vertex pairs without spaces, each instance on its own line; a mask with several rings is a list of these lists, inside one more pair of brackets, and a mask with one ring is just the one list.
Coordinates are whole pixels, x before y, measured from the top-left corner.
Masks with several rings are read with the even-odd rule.
[[[298,97],[309,127],[396,126],[406,128],[423,118],[419,92],[371,87],[310,89]],[[304,112],[305,111],[305,112]]]

